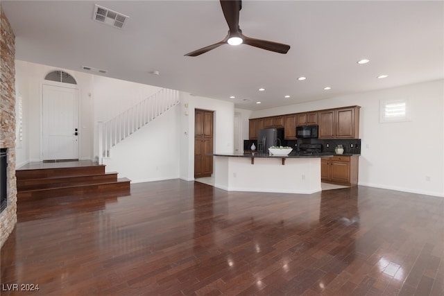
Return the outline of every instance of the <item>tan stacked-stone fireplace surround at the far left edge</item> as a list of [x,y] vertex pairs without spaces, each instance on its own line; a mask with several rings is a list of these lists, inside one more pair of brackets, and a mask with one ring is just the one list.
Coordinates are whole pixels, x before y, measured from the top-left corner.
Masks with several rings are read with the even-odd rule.
[[15,35],[0,4],[0,148],[7,149],[7,207],[0,213],[1,245],[17,223],[15,178]]

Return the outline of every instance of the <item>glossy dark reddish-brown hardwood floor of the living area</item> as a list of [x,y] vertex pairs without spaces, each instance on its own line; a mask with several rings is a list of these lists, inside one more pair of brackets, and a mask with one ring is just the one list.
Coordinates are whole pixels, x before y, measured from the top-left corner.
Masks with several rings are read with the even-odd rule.
[[1,295],[444,295],[444,198],[167,180],[17,206]]

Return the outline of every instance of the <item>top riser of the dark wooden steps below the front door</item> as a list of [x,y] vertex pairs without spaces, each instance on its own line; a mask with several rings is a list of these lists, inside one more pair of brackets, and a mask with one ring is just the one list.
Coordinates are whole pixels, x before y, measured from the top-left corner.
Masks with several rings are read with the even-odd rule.
[[67,177],[75,175],[100,175],[105,173],[105,165],[76,166],[67,168],[37,168],[17,170],[17,180],[42,179],[45,177]]

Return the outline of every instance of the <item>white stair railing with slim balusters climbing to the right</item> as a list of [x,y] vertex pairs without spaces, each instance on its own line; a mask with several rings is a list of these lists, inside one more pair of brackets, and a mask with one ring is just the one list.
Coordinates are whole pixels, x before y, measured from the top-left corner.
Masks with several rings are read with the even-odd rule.
[[99,122],[99,163],[103,163],[103,157],[110,157],[112,146],[126,139],[130,134],[178,103],[178,91],[160,89],[159,92],[121,112],[109,121]]

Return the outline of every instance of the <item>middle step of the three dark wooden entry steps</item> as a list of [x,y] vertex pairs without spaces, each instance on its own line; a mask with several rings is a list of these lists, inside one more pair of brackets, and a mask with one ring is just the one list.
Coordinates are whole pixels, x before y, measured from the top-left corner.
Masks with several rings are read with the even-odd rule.
[[117,172],[99,175],[76,175],[65,177],[48,177],[39,179],[17,180],[17,191],[30,191],[53,187],[64,187],[85,184],[99,184],[117,181]]

